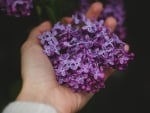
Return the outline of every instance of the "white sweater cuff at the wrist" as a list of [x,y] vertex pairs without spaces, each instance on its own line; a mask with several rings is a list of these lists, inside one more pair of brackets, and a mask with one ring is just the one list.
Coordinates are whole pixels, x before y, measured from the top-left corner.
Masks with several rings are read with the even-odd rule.
[[2,113],[57,113],[50,105],[16,101],[8,104]]

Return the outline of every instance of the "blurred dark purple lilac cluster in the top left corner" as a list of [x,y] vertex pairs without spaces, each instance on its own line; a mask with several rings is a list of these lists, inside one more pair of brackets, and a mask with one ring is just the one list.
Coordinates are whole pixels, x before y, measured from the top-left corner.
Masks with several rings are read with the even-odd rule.
[[32,9],[32,0],[1,0],[0,9],[10,16],[29,16]]

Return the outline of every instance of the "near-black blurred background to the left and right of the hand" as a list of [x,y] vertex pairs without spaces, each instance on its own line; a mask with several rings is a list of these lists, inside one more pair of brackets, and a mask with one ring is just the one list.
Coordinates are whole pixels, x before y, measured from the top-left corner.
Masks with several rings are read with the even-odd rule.
[[[106,88],[97,93],[80,113],[150,113],[150,78],[148,53],[148,3],[125,0],[127,39],[134,61],[124,72],[116,72],[106,81]],[[36,25],[36,16],[8,17],[0,13],[0,111],[13,101],[21,87],[20,47],[28,36],[29,25]],[[148,27],[148,28],[147,28]]]

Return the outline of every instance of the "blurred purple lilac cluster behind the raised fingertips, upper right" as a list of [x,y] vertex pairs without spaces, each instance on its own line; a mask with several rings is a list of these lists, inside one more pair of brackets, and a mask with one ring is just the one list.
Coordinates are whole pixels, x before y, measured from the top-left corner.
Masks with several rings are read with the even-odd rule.
[[120,39],[124,39],[126,32],[124,27],[125,10],[123,0],[106,0],[102,19],[106,19],[111,16],[117,20],[117,27],[114,32],[120,37]]

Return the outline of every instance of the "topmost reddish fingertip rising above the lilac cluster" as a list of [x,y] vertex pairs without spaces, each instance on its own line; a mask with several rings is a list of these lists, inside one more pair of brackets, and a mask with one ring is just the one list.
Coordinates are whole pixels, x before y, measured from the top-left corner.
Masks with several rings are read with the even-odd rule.
[[101,12],[103,11],[103,4],[101,2],[95,2],[93,3],[89,10],[86,13],[86,17],[89,19],[97,19]]

